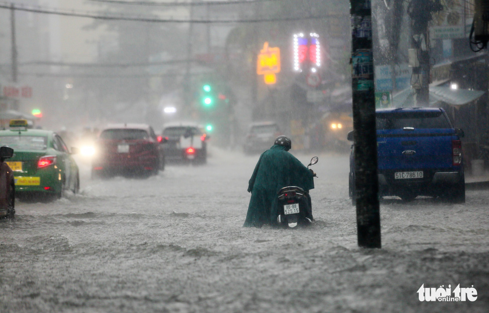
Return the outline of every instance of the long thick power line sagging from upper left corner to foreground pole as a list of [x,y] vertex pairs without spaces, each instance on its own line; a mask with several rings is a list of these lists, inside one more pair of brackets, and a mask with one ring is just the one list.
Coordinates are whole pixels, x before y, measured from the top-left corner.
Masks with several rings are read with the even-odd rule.
[[[291,16],[291,17],[275,17],[275,18],[255,18],[255,19],[161,19],[161,18],[142,18],[127,15],[98,15],[92,12],[80,12],[80,11],[66,11],[66,10],[56,10],[56,9],[45,9],[40,7],[26,7],[26,6],[12,6],[6,2],[0,2],[0,8],[13,9],[18,11],[26,11],[33,13],[42,14],[56,14],[63,16],[75,16],[75,17],[88,17],[94,19],[103,20],[125,20],[125,21],[141,21],[141,22],[156,22],[156,23],[264,23],[264,22],[275,22],[275,21],[295,21],[303,19],[324,19],[327,17],[337,17],[341,14],[325,14],[325,15],[309,15],[309,16]],[[345,16],[348,16],[344,14]]]

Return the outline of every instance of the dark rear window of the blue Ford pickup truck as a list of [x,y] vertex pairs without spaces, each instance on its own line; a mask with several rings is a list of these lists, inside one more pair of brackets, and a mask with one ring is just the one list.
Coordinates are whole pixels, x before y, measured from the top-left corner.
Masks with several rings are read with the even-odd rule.
[[377,130],[404,129],[446,129],[452,128],[441,111],[431,112],[382,112],[376,113]]

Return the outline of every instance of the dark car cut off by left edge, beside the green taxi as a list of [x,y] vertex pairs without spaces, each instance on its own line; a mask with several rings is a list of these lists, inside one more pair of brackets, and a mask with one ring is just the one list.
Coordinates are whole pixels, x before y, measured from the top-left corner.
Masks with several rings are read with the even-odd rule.
[[15,184],[13,171],[5,161],[13,156],[13,149],[0,148],[0,218],[13,217],[15,214]]

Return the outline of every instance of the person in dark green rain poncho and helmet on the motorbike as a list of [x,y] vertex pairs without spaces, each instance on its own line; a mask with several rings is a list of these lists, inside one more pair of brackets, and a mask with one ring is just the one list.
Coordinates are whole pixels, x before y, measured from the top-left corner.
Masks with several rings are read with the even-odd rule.
[[[248,181],[251,198],[243,227],[260,228],[263,224],[278,224],[277,193],[282,187],[298,186],[305,191],[314,188],[313,177],[316,174],[288,152],[291,147],[290,139],[282,135],[275,139],[270,149],[261,154]],[[312,221],[311,212],[309,207],[307,217]]]

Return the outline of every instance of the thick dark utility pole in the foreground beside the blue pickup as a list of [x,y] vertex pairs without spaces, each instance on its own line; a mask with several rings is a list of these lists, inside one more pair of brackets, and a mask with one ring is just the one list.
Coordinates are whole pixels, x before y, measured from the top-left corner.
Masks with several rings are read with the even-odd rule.
[[350,18],[358,245],[381,248],[370,0],[350,0]]

